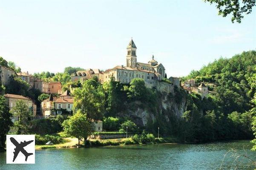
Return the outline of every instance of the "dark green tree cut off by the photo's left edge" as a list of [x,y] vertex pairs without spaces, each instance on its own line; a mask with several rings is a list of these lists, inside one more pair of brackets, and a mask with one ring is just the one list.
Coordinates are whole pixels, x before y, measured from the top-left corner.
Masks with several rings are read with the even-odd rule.
[[6,134],[9,132],[12,126],[12,116],[9,113],[9,107],[6,105],[6,99],[3,95],[0,95],[0,150],[5,148]]

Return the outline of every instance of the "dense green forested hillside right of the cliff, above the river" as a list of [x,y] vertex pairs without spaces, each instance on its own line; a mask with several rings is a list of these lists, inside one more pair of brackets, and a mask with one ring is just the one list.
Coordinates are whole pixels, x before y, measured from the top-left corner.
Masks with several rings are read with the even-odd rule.
[[196,83],[216,83],[208,99],[190,94],[181,122],[183,141],[205,142],[216,139],[251,139],[255,104],[252,77],[256,73],[256,51],[243,52],[230,59],[220,58],[192,71],[185,79]]

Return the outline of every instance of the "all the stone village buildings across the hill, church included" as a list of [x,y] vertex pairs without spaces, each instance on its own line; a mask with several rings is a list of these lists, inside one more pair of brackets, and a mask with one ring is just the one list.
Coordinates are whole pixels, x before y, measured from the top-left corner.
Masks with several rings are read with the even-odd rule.
[[[202,98],[207,97],[207,94],[210,93],[207,85],[202,82],[198,86],[194,79],[189,79],[184,83],[181,83],[181,80],[178,77],[169,77],[167,79],[164,65],[161,64],[161,62],[158,62],[154,55],[152,55],[152,58],[147,63],[138,62],[136,51],[137,47],[134,41],[130,40],[127,46],[126,65],[117,65],[105,71],[91,68],[77,71],[70,76],[71,81],[79,81],[83,84],[87,79],[92,79],[96,76],[101,84],[109,82],[111,79],[123,84],[129,84],[132,79],[140,78],[144,80],[147,88],[154,88],[157,91],[165,92],[167,94],[173,93],[175,86],[177,88],[184,88],[189,93],[194,92],[200,94]],[[74,99],[72,93],[70,93],[70,91],[72,91],[71,87],[66,91],[62,91],[61,82],[46,82],[34,77],[28,72],[15,72],[2,65],[0,65],[0,71],[1,82],[4,86],[9,85],[9,77],[17,76],[23,81],[26,81],[30,88],[35,88],[43,94],[50,94],[49,98],[43,100],[40,105],[36,105],[35,101],[26,96],[5,94],[6,103],[10,110],[15,106],[17,100],[23,100],[27,103],[28,110],[33,112],[33,116],[47,117],[72,113]],[[13,117],[12,121],[17,121],[17,117]],[[101,130],[102,123],[101,127],[97,128],[97,131]]]

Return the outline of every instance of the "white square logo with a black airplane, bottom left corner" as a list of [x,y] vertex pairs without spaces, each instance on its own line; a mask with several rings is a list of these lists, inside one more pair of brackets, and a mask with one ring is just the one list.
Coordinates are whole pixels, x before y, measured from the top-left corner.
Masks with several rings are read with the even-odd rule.
[[35,164],[35,135],[6,135],[6,164]]

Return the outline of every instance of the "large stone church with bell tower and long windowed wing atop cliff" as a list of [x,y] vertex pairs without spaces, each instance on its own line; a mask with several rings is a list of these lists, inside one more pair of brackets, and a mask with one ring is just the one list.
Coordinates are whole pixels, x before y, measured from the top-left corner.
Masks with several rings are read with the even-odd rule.
[[104,71],[104,82],[114,77],[115,81],[129,83],[134,78],[144,79],[147,88],[157,86],[157,83],[165,76],[165,68],[158,63],[154,56],[148,63],[137,62],[137,47],[133,40],[127,46],[126,66],[118,65]]

